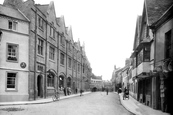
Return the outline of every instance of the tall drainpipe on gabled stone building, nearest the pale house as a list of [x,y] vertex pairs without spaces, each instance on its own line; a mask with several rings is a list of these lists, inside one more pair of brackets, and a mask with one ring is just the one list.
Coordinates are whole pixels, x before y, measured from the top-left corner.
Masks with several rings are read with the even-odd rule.
[[34,100],[36,100],[36,66],[37,66],[37,9],[35,11],[35,51],[34,51]]

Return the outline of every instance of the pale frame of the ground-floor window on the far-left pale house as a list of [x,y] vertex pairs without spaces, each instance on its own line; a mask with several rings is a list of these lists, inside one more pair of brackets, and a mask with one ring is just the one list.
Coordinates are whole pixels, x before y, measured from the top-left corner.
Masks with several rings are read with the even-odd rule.
[[[15,74],[15,88],[8,88],[8,73]],[[17,92],[18,91],[18,72],[6,71],[6,81],[5,81],[5,91],[6,92]]]

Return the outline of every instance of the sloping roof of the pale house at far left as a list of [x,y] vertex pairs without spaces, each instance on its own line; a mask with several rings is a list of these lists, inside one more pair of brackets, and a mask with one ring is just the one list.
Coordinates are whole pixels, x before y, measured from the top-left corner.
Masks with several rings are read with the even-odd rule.
[[29,19],[27,19],[24,14],[22,14],[20,12],[20,10],[15,9],[15,8],[11,8],[8,6],[3,6],[0,4],[0,14],[4,15],[4,16],[9,16],[12,18],[16,18],[16,19],[20,19],[23,21],[29,21]]

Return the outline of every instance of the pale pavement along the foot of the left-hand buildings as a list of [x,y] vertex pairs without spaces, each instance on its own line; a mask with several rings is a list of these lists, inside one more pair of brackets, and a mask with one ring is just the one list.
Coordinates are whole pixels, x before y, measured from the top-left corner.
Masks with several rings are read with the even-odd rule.
[[[83,92],[82,95],[86,95],[86,94],[90,94],[90,93],[91,92]],[[67,96],[61,95],[59,100],[68,99],[68,98],[77,97],[77,96],[80,96],[80,93],[71,94],[71,95],[67,95]],[[41,98],[41,99],[37,99],[37,100],[33,100],[33,101],[0,102],[0,106],[45,104],[45,103],[51,103],[51,102],[54,102],[52,100],[52,97],[48,97],[46,99]]]

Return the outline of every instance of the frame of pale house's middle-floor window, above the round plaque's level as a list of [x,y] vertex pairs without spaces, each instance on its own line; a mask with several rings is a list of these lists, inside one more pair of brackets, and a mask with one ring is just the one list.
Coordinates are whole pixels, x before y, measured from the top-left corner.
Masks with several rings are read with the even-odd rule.
[[[16,58],[17,58],[16,61],[8,59],[8,56],[9,56],[8,46],[9,45],[16,46]],[[6,61],[7,62],[18,62],[19,61],[19,45],[18,44],[7,43],[7,45],[6,45]]]

